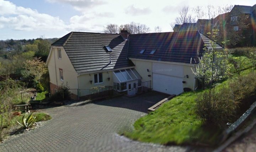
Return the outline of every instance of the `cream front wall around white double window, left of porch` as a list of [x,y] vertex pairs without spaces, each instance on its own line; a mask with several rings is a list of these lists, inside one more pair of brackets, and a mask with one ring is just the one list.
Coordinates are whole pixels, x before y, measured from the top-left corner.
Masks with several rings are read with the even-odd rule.
[[[98,86],[113,86],[113,72],[99,72],[102,73],[103,77],[103,83],[101,84],[95,84],[94,83],[94,74],[96,73],[91,73],[91,74],[82,74],[79,75],[79,89],[91,89],[94,87]],[[110,81],[108,81],[107,78],[110,78]],[[92,84],[90,83],[90,80],[92,80]]]

